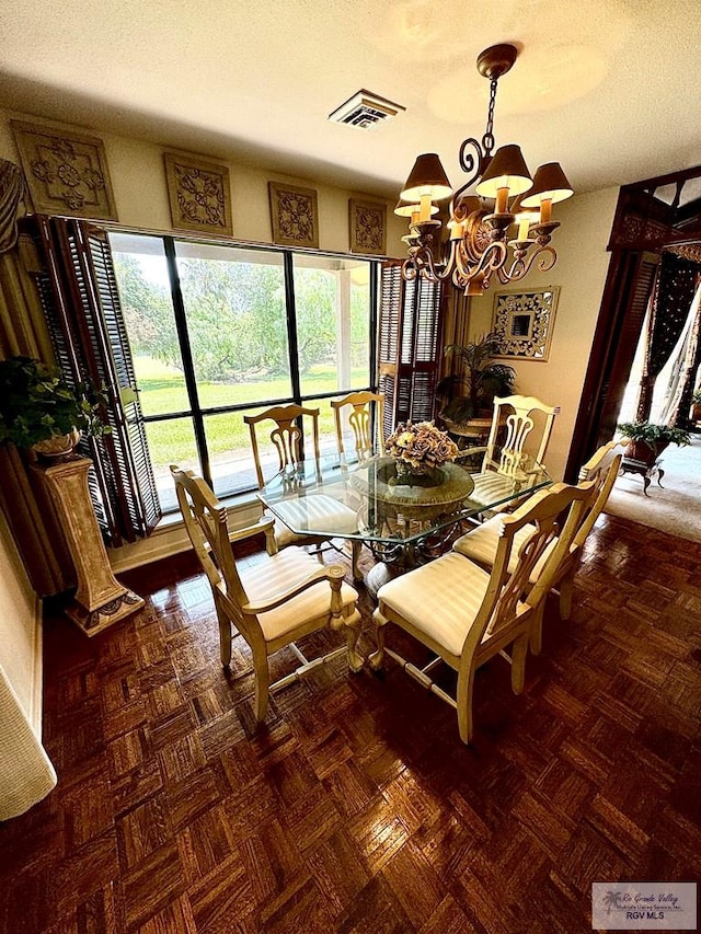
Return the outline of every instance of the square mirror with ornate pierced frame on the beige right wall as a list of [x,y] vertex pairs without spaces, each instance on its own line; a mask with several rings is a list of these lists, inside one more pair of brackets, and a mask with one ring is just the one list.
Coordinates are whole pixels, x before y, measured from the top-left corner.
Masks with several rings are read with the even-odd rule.
[[499,351],[495,356],[547,360],[559,293],[558,287],[496,292],[492,332]]

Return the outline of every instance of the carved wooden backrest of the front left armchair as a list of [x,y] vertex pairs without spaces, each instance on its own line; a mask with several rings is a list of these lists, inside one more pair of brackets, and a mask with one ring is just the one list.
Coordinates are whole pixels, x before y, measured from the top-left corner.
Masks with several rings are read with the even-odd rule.
[[248,597],[229,541],[227,507],[193,471],[171,464],[171,474],[185,530],[209,580],[215,604],[219,608],[220,601],[223,601],[228,614],[248,637],[251,624],[239,609],[248,603]]

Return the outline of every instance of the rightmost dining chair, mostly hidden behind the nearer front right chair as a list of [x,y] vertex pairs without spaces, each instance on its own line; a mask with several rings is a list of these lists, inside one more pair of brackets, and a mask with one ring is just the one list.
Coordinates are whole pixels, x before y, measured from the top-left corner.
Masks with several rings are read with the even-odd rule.
[[[575,535],[570,546],[570,551],[560,563],[556,574],[553,575],[551,581],[552,590],[559,588],[560,615],[563,620],[570,619],[570,614],[572,612],[574,577],[582,558],[584,543],[586,542],[587,537],[591,532],[596,520],[601,515],[607,499],[609,498],[609,494],[613,487],[616,477],[618,476],[623,448],[624,445],[619,441],[609,441],[609,443],[602,445],[579,470],[579,483],[594,483],[596,487],[596,496],[593,497],[590,507],[582,510],[579,516],[581,524],[575,530]],[[512,555],[509,569],[515,567],[516,553],[531,531],[532,530],[530,528],[524,527],[517,533],[515,539],[515,553]],[[475,562],[481,567],[489,570],[494,565],[494,561],[496,558],[499,533],[501,524],[498,516],[495,516],[453,542],[453,551],[470,558],[470,561]],[[551,543],[551,547],[553,545],[554,542]],[[530,586],[535,584],[538,570],[538,567],[533,568],[529,581]],[[537,621],[532,629],[531,650],[535,655],[540,653],[542,645],[543,611],[544,601],[541,603]]]

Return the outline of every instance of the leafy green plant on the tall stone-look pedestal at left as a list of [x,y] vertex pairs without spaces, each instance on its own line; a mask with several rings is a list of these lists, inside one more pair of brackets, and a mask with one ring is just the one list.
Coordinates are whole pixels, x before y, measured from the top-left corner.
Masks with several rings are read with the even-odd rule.
[[69,385],[62,373],[31,357],[0,360],[0,443],[31,448],[78,428],[112,430],[100,417],[103,392],[91,383]]

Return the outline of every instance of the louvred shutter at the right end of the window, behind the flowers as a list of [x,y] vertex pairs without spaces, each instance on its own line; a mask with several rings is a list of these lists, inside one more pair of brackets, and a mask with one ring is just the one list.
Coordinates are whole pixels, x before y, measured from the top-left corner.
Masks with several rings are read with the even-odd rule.
[[404,281],[401,263],[382,266],[380,292],[380,390],[386,422],[434,417],[440,347],[441,284]]

